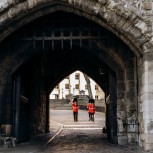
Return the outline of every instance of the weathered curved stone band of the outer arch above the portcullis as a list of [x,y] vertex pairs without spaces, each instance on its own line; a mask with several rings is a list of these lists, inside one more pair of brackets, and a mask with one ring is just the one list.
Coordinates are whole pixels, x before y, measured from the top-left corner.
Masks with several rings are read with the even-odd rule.
[[[5,4],[5,5],[4,5]],[[141,55],[151,47],[148,20],[137,15],[138,8],[131,10],[124,3],[114,4],[112,1],[75,1],[75,0],[35,0],[2,3],[1,9],[1,40],[19,27],[32,20],[58,10],[72,12],[84,16],[100,24],[117,35],[137,55]],[[131,6],[133,4],[128,4]],[[136,5],[135,5],[136,6]],[[139,11],[140,12],[140,11]],[[140,12],[140,15],[143,12]],[[22,20],[21,20],[22,19]],[[21,22],[20,22],[21,21]],[[23,22],[24,21],[24,22]],[[11,25],[12,24],[12,25]],[[15,24],[15,26],[13,26]],[[10,28],[11,26],[11,28]],[[134,43],[135,42],[135,43]]]

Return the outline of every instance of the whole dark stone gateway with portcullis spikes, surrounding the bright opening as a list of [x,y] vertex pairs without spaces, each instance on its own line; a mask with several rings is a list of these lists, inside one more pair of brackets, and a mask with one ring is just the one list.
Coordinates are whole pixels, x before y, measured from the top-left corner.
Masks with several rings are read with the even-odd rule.
[[106,94],[108,139],[153,149],[151,22],[139,7],[105,0],[2,4],[0,125],[7,134],[24,141],[47,132],[51,89],[79,69]]

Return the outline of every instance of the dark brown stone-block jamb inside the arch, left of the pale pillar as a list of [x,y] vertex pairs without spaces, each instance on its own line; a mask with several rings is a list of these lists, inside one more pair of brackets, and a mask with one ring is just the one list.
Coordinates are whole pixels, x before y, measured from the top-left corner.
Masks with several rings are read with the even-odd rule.
[[138,142],[137,77],[134,57],[126,62],[126,69],[117,75],[118,143]]

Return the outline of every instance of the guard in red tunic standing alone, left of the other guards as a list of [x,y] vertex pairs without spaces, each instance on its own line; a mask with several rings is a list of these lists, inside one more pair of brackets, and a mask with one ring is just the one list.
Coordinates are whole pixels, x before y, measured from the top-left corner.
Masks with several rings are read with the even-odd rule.
[[79,106],[77,105],[77,98],[74,98],[72,101],[72,110],[73,110],[73,117],[74,117],[74,122],[78,121],[78,109]]

